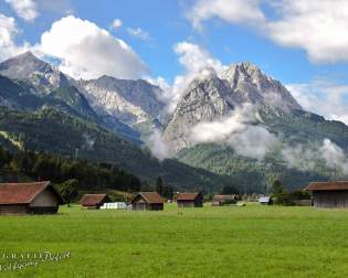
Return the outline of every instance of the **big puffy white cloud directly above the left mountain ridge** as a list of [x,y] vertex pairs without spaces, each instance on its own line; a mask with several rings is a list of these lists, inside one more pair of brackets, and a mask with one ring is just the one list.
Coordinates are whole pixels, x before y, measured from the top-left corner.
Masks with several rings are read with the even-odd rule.
[[62,61],[60,70],[75,78],[110,75],[135,79],[148,72],[140,57],[123,40],[93,22],[73,15],[62,18],[41,36],[36,46]]

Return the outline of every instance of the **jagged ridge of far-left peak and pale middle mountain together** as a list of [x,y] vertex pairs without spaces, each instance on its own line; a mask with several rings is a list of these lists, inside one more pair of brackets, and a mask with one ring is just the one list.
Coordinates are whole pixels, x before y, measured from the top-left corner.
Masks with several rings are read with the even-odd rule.
[[[44,103],[45,107],[54,106],[65,113],[73,113],[74,116],[93,119],[137,143],[141,143],[140,132],[136,130],[137,127],[130,126],[141,121],[156,121],[162,107],[156,96],[160,88],[146,81],[120,81],[102,76],[96,81],[77,82],[31,52],[0,63],[0,75],[21,86],[27,97],[45,98],[44,101],[35,98],[36,105],[29,107],[30,109],[39,109],[40,104],[42,106]],[[101,96],[101,90],[106,94]],[[28,108],[25,103],[18,106],[3,97],[1,103],[12,108]]]

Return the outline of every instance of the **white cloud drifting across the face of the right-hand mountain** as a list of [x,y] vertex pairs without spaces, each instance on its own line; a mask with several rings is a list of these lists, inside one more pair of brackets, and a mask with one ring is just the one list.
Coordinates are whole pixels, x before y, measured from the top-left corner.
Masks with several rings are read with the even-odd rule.
[[250,104],[233,111],[231,117],[200,122],[190,129],[196,143],[226,143],[243,157],[262,160],[278,143],[278,138],[265,127],[253,125],[256,110]]

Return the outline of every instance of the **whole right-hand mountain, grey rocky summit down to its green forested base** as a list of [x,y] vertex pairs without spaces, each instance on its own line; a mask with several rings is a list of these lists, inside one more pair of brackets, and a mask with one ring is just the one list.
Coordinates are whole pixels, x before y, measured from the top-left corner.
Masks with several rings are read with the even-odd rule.
[[[251,119],[243,119],[245,115],[241,113],[246,104],[254,108]],[[235,117],[236,113],[241,121],[225,120]],[[241,136],[232,146],[229,137],[219,142],[194,141],[192,129],[207,122],[219,122],[214,132],[223,133],[223,129],[231,128],[229,125],[240,125],[238,128],[242,131],[251,128],[254,132],[247,133],[249,138]],[[265,142],[256,131],[277,141],[262,159],[236,151],[247,143],[252,143],[254,149],[264,148]],[[225,132],[224,136],[231,136]],[[345,154],[337,148],[348,152],[348,127],[345,124],[305,111],[278,81],[251,63],[232,64],[219,75],[210,71],[210,74],[193,79],[183,92],[164,138],[181,162],[231,177],[232,184],[247,192],[262,192],[265,184],[270,185],[276,178],[288,188],[300,188],[313,180],[333,179],[330,169],[336,163],[336,154],[316,157],[325,140],[329,139],[336,146],[334,149],[341,161]],[[287,161],[284,150],[291,152],[295,161]],[[335,170],[335,175],[347,177],[344,169],[338,170],[340,167]]]

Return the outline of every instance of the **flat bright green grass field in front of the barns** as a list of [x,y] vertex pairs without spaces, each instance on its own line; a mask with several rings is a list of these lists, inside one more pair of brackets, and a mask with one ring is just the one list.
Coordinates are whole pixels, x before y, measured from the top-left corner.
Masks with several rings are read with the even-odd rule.
[[71,252],[0,277],[348,277],[348,211],[247,205],[1,216],[2,254]]

